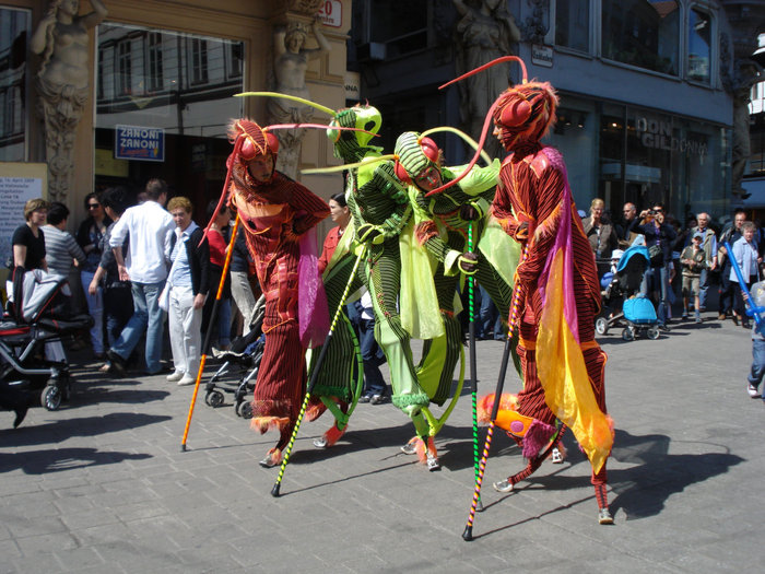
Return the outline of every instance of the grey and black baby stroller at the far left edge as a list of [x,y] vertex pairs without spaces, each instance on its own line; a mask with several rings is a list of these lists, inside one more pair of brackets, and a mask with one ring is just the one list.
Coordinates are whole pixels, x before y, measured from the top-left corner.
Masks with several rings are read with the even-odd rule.
[[66,277],[23,268],[13,277],[0,321],[0,406],[16,411],[15,427],[36,395],[50,411],[69,399],[73,380],[61,337],[90,328],[93,318],[67,316]]

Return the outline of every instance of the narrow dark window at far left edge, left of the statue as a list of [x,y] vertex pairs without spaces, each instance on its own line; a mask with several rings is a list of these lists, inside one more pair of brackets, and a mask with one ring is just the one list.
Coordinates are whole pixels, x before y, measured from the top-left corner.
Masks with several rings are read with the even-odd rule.
[[0,162],[26,160],[30,12],[0,8]]

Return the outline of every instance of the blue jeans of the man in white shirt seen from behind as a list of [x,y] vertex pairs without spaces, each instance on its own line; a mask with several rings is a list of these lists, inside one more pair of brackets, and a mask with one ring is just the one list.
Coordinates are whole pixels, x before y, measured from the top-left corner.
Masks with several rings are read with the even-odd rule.
[[133,316],[119,335],[119,339],[111,347],[111,351],[123,360],[130,356],[141,336],[146,333],[145,360],[146,373],[156,374],[162,370],[162,336],[165,326],[165,312],[160,307],[160,293],[165,286],[164,281],[158,283],[131,284],[133,295]]

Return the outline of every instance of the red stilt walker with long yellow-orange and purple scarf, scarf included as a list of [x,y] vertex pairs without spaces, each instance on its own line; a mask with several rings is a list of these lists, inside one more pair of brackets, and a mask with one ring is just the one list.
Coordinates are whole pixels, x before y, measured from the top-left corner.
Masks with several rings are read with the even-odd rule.
[[[611,524],[605,460],[613,424],[605,410],[605,353],[595,340],[598,273],[563,156],[540,142],[555,121],[558,99],[548,82],[528,82],[526,67],[516,57],[494,60],[469,74],[510,59],[523,68],[523,82],[508,87],[492,105],[484,138],[493,120],[494,136],[509,154],[499,171],[492,212],[525,249],[516,270],[517,314],[510,317],[519,335],[523,389],[502,399],[496,424],[522,445],[529,462],[495,482],[494,489],[510,492],[539,468],[560,441],[560,420],[572,429],[592,466],[598,520]],[[489,411],[493,400],[486,400]]]

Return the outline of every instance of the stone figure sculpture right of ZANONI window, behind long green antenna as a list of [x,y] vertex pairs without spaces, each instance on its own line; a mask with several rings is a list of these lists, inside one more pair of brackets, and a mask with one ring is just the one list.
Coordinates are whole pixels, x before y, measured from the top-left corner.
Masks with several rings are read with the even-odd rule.
[[[311,24],[311,32],[318,48],[305,47],[308,33],[305,24],[299,21],[291,21],[286,26],[280,26],[274,31],[273,75],[276,92],[310,99],[310,92],[306,85],[308,61],[330,50],[327,38],[321,34],[318,20]],[[308,105],[279,98],[269,99],[268,112],[269,124],[307,122],[314,115],[314,108]],[[305,130],[276,130],[274,133],[279,138],[276,168],[295,179]]]

